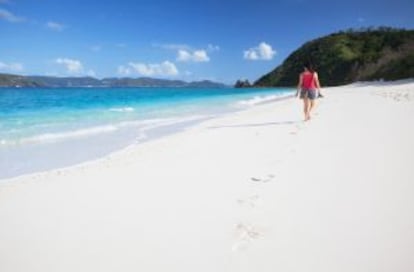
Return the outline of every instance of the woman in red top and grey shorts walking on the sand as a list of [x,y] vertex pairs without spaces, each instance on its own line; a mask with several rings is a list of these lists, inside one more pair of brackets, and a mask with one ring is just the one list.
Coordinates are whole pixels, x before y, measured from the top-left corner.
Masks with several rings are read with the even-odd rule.
[[304,65],[304,71],[299,75],[299,83],[296,96],[300,95],[303,100],[303,113],[305,121],[310,120],[311,112],[315,107],[316,99],[320,95],[321,86],[319,84],[318,73],[313,70],[311,63]]

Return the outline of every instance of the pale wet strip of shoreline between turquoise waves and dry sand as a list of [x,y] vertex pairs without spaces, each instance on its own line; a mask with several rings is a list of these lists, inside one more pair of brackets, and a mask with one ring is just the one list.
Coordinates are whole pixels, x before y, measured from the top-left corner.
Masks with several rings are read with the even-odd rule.
[[[279,94],[276,97],[269,96],[265,97],[265,99],[261,98],[264,99],[263,101],[249,102],[254,103],[254,107],[266,103],[282,101],[289,99],[290,97],[291,95]],[[203,112],[196,116],[174,117],[177,120],[161,120],[159,121],[159,124],[155,125],[150,124],[147,126],[144,125],[145,122],[143,122],[143,125],[141,125],[142,127],[140,128],[119,128],[113,132],[104,133],[102,135],[79,137],[66,141],[29,143],[23,146],[5,148],[4,150],[0,150],[3,158],[8,158],[8,160],[5,160],[0,164],[0,183],[7,179],[17,178],[19,176],[64,169],[105,158],[112,153],[118,153],[130,146],[145,144],[148,141],[153,141],[160,137],[168,137],[172,134],[180,133],[192,126],[196,126],[206,120],[220,118],[227,114],[248,109],[249,108],[247,107],[240,109],[234,108],[231,110],[222,109],[222,112]],[[106,126],[111,125],[108,124]],[[92,128],[92,130],[95,130],[95,128]],[[50,135],[48,136],[50,137]],[[88,150],[85,150],[85,147]],[[71,153],[71,156],[62,155],[69,153]],[[17,162],[18,166],[15,165]]]

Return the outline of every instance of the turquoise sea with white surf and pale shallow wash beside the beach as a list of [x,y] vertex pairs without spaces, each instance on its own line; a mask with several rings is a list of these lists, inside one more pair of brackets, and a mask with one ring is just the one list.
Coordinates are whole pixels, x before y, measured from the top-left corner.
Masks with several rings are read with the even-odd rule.
[[64,167],[291,89],[0,88],[0,179]]

